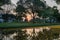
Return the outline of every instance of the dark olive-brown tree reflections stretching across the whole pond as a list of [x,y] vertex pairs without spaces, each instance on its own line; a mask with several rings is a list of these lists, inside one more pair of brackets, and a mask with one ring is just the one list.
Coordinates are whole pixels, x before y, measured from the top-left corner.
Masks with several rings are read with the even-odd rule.
[[32,35],[27,34],[26,30],[22,31],[21,29],[2,29],[2,35],[11,35],[13,33],[17,33],[16,36],[14,36],[13,38],[15,40],[28,40],[27,37],[30,37],[30,40],[53,40],[53,39],[57,39],[59,38],[59,34],[60,34],[60,29],[43,29],[42,31],[37,32],[38,35],[36,35],[35,30],[33,30]]

